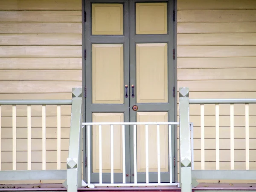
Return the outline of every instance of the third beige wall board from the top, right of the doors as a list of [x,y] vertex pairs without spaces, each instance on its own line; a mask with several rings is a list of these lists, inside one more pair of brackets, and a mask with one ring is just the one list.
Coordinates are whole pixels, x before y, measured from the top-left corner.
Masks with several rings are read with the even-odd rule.
[[177,33],[255,33],[255,22],[177,23]]

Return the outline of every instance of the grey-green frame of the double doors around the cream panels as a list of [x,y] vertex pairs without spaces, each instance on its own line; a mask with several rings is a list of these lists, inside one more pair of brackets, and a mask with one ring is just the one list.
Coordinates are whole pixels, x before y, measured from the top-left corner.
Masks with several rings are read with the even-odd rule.
[[[126,11],[126,9],[129,7],[129,6],[124,6],[124,35],[120,35],[120,36],[114,36],[114,35],[91,35],[91,22],[90,22],[90,18],[91,18],[91,11],[88,10],[90,7],[90,3],[93,2],[93,3],[104,3],[104,2],[107,2],[107,3],[124,3],[125,5],[129,4],[127,0],[81,0],[82,1],[82,13],[85,15],[86,13],[86,17],[87,17],[87,21],[85,22],[85,20],[82,20],[82,50],[85,50],[87,51],[87,58],[85,59],[85,54],[82,54],[82,78],[83,78],[83,81],[82,81],[82,86],[83,87],[86,87],[87,88],[87,91],[86,91],[86,99],[85,99],[85,89],[83,90],[83,94],[84,94],[84,98],[83,98],[83,105],[84,105],[84,108],[83,108],[83,122],[91,122],[91,113],[92,112],[124,112],[125,113],[125,122],[129,122],[130,119],[128,116],[132,116],[132,114],[130,114],[130,111],[129,111],[129,107],[132,106],[132,104],[130,104],[130,106],[128,106],[128,108],[126,109],[123,109],[123,110],[120,110],[120,108],[118,109],[118,107],[120,106],[117,106],[115,104],[115,106],[111,106],[108,104],[108,106],[106,107],[103,107],[102,106],[99,106],[99,105],[95,105],[93,104],[94,106],[91,105],[91,101],[92,101],[92,96],[91,96],[91,87],[89,86],[90,83],[91,83],[91,71],[92,71],[92,67],[90,66],[90,62],[91,62],[91,44],[93,43],[99,43],[99,44],[108,44],[108,43],[124,43],[124,53],[127,51],[127,49],[129,49],[129,32],[127,32],[127,27],[129,27],[129,11]],[[136,2],[149,2],[151,0],[136,0]],[[177,86],[177,72],[176,72],[176,69],[177,69],[177,59],[175,58],[175,60],[172,60],[172,48],[171,47],[174,47],[174,48],[177,48],[177,21],[173,21],[171,18],[172,18],[172,11],[173,10],[177,10],[177,0],[154,0],[153,2],[169,2],[168,4],[168,15],[169,15],[169,22],[168,22],[168,36],[169,36],[169,40],[167,43],[168,44],[168,69],[169,69],[169,72],[170,70],[172,70],[172,76],[173,78],[169,78],[168,81],[169,81],[169,99],[170,99],[170,102],[169,104],[172,105],[173,107],[173,110],[172,109],[166,109],[166,108],[163,108],[163,110],[166,109],[166,111],[169,112],[169,120],[170,121],[177,121],[177,97],[175,97],[174,99],[171,98],[172,96],[172,88],[173,87],[170,87],[171,85],[174,85],[175,87]],[[126,9],[125,9],[126,7]],[[131,7],[131,5],[130,5]],[[88,12],[89,11],[89,12]],[[134,12],[134,16],[135,16],[135,12]],[[133,17],[134,17],[133,16]],[[128,18],[127,18],[128,17]],[[177,12],[175,12],[175,18],[177,18]],[[131,17],[130,17],[131,19]],[[130,33],[132,32],[132,30],[135,30],[135,17],[133,18],[134,19],[134,29],[128,29],[128,31],[130,30]],[[135,34],[135,31],[134,31],[134,34]],[[128,36],[127,36],[128,35]],[[139,35],[135,35],[137,37],[135,37],[135,40],[134,40],[134,43],[136,41],[136,38],[141,38],[139,37]],[[152,41],[150,39],[146,39],[146,38],[151,38],[150,36],[151,35],[143,35],[144,36],[144,42],[142,41],[136,41],[136,42],[142,42],[142,43],[152,43]],[[155,35],[154,35],[155,36]],[[163,36],[163,35],[162,35]],[[161,39],[161,38],[160,38]],[[131,40],[130,40],[131,41]],[[128,42],[128,43],[127,43]],[[157,41],[157,43],[160,43],[160,42],[166,42],[166,41]],[[173,44],[172,44],[173,43]],[[128,47],[127,47],[128,46]],[[131,50],[130,50],[131,51]],[[129,52],[129,51],[128,51]],[[127,58],[127,55],[124,54],[124,60],[125,62],[128,62],[129,64],[129,55],[128,55],[128,58]],[[134,57],[134,61],[135,61],[135,57]],[[174,61],[174,62],[173,62]],[[125,62],[124,62],[124,65],[125,65]],[[173,67],[170,66],[170,64],[173,64]],[[124,71],[127,70],[127,66],[125,65],[124,66]],[[88,71],[90,71],[90,73],[88,74]],[[130,70],[129,70],[130,72]],[[127,79],[126,75],[130,76],[130,74],[125,74],[124,73],[124,80]],[[129,77],[128,77],[129,79]],[[135,79],[133,79],[133,81],[135,81]],[[170,83],[172,82],[172,84]],[[124,81],[124,84],[128,84],[128,91],[130,92],[130,96],[131,96],[131,79],[130,81],[128,82],[125,82]],[[135,84],[135,82],[134,82]],[[135,91],[136,91],[136,87],[135,87]],[[135,99],[136,97],[134,97]],[[125,98],[125,100],[128,100],[128,98]],[[172,102],[173,101],[173,102]],[[126,101],[125,101],[126,102]],[[130,102],[130,101],[129,101]],[[127,103],[124,104],[125,106],[127,106]],[[99,107],[101,108],[101,110],[99,111]],[[109,107],[113,107],[112,111],[109,110]],[[140,109],[143,110],[143,104],[140,104]],[[86,110],[85,110],[86,109]],[[89,109],[89,111],[88,111]],[[145,108],[146,110],[146,108]],[[161,111],[163,111],[161,110]],[[90,113],[90,114],[88,114]],[[132,112],[131,112],[132,113]],[[127,116],[128,114],[128,116]],[[134,115],[133,115],[134,116]],[[134,117],[133,117],[134,118]],[[177,127],[176,127],[177,128]],[[126,129],[128,130],[128,129]],[[132,130],[130,131],[130,134],[132,133]],[[176,129],[172,129],[172,135],[173,135],[173,140],[172,140],[172,157],[173,156],[177,156],[177,131]],[[129,145],[130,145],[130,140],[132,140],[132,138],[130,138],[130,135],[127,136],[127,132],[125,132],[126,136],[125,136],[125,139],[126,140],[129,140]],[[133,134],[131,134],[133,135]],[[83,129],[83,148],[85,149],[86,148],[86,138],[87,138],[87,135],[86,135],[86,131],[85,131],[85,128]],[[130,147],[129,145],[126,145],[128,147]],[[129,148],[130,150],[132,149]],[[129,157],[130,154],[133,154],[132,151],[129,151],[129,149],[127,149],[126,151],[126,157]],[[84,165],[86,166],[87,164],[87,160],[86,160],[86,157],[87,157],[87,151],[84,150],[83,152],[83,159],[84,159]],[[91,156],[92,157],[92,156]],[[131,158],[132,159],[132,158]],[[92,159],[90,161],[92,163]],[[131,161],[132,162],[132,161]],[[92,166],[92,164],[91,164]],[[133,166],[133,164],[131,163],[131,166]],[[173,165],[172,165],[173,166]],[[126,169],[126,172],[130,171],[130,162],[129,161],[126,161],[126,167],[129,168]],[[87,166],[85,167],[85,169],[83,169],[83,178],[84,178],[84,181],[87,181]],[[133,170],[133,169],[131,169]],[[177,182],[177,166],[174,167],[173,169],[173,182]],[[132,172],[132,171],[131,171]],[[130,175],[130,172],[128,172],[128,174]],[[131,174],[132,175],[132,174]],[[93,176],[93,177],[92,177]],[[110,183],[110,177],[108,178],[109,176],[106,174],[105,176],[102,175],[102,180],[106,183]],[[118,183],[118,182],[122,182],[119,178],[119,174],[117,175],[114,175],[114,182],[115,183]],[[151,176],[150,176],[151,177]],[[153,176],[155,177],[155,176]],[[167,177],[167,175],[164,173],[164,175],[162,176],[161,175],[161,178],[165,178]],[[121,177],[122,178],[122,177]],[[156,177],[157,178],[157,177]],[[168,178],[168,177],[167,177]],[[94,174],[94,175],[91,175],[91,181],[95,180],[95,182],[99,182],[99,174]],[[131,180],[130,180],[130,177],[127,177],[126,178],[126,183],[129,183],[129,182],[132,182],[133,180],[133,177],[131,176]],[[138,182],[144,182],[143,179],[140,179],[139,175],[138,175]],[[165,182],[164,180],[161,180],[161,182]],[[169,182],[169,180],[167,181]]]

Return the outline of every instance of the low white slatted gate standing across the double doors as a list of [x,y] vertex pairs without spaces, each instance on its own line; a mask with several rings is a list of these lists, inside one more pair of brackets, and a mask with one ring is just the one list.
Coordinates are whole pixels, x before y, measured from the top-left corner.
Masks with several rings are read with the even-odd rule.
[[[178,122],[83,122],[82,125],[86,126],[87,136],[91,134],[91,126],[98,125],[99,130],[99,183],[91,183],[91,141],[90,137],[87,137],[87,185],[89,187],[94,186],[171,186],[176,185],[177,183],[172,183],[172,128],[175,128],[174,125],[178,125]],[[102,125],[110,126],[110,135],[111,135],[111,183],[102,182]],[[122,125],[122,183],[114,183],[114,154],[113,154],[113,125]],[[126,183],[126,166],[125,166],[125,125],[131,125],[133,129],[133,151],[134,151],[134,182]],[[145,183],[137,182],[137,125],[145,125]],[[149,166],[148,166],[148,125],[156,125],[157,128],[157,183],[149,182]],[[160,125],[168,125],[168,149],[169,149],[169,183],[161,183],[161,170],[160,170]],[[129,127],[128,127],[129,128]]]

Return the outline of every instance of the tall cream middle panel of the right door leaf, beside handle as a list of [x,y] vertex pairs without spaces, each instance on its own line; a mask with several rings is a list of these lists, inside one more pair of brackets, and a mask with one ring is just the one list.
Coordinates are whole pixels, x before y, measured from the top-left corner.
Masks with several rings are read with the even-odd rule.
[[136,44],[137,103],[168,102],[167,44]]

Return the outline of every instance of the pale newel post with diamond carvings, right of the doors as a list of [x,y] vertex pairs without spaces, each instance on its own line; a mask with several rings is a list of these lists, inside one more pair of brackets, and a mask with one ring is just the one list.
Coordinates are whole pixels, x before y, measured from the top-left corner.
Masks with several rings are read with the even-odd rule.
[[189,128],[189,88],[180,88],[180,187],[181,192],[192,191],[191,145]]

